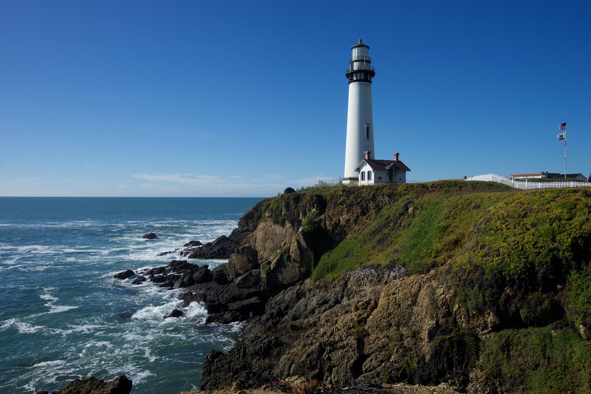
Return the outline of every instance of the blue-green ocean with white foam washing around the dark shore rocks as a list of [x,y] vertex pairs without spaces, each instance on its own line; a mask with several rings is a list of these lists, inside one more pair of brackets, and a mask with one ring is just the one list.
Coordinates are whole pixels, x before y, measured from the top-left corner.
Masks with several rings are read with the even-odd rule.
[[[57,390],[126,375],[132,393],[199,389],[203,357],[241,324],[205,324],[181,291],[113,274],[166,265],[190,240],[229,235],[261,198],[0,197],[0,392]],[[158,239],[141,236],[155,232]],[[226,260],[198,260],[210,268]]]

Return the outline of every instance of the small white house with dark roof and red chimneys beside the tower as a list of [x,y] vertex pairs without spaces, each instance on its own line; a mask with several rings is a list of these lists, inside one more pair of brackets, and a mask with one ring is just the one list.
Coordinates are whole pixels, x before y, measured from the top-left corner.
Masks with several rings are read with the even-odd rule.
[[394,154],[394,160],[376,160],[371,158],[371,152],[365,152],[365,159],[355,168],[359,173],[359,185],[406,183],[410,168],[398,159],[398,155]]

